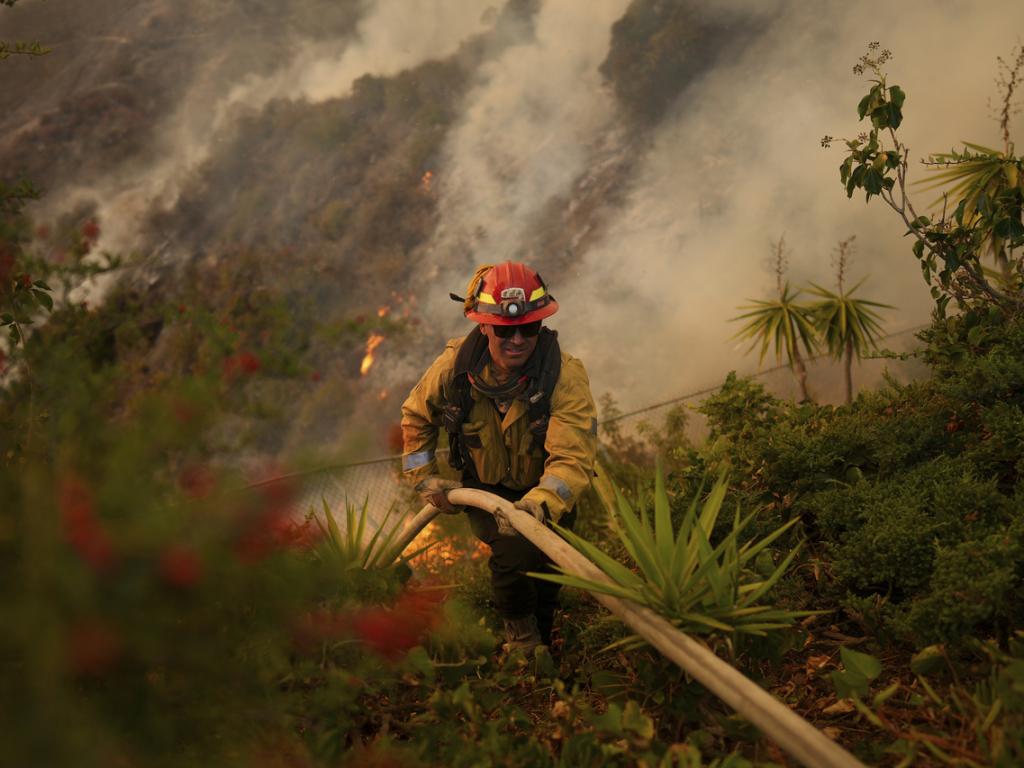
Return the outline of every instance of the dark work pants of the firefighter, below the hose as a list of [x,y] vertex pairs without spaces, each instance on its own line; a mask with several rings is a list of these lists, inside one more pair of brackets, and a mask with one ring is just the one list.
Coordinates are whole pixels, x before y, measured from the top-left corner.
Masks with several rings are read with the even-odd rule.
[[[510,502],[519,501],[529,488],[513,490],[504,485],[487,485],[471,479],[463,479],[468,488],[488,490]],[[523,618],[537,616],[537,628],[546,645],[551,643],[551,628],[558,607],[558,591],[561,587],[551,582],[532,579],[526,571],[553,573],[551,560],[521,534],[501,536],[495,516],[475,507],[467,507],[469,524],[473,534],[490,548],[490,587],[495,595],[495,608],[502,618]],[[575,510],[562,515],[559,524],[571,528],[575,522]]]

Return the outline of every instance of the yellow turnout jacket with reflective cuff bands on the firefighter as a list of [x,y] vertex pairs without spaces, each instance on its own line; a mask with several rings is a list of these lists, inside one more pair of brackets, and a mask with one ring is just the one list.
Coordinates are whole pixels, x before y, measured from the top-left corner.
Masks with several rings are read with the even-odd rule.
[[[442,427],[444,392],[453,391],[455,361],[463,339],[449,341],[440,356],[413,388],[401,407],[402,470],[412,482],[437,474],[438,431]],[[515,399],[503,415],[486,395],[471,388],[473,408],[463,425],[481,482],[514,489],[530,488],[524,498],[546,504],[557,521],[590,485],[597,453],[597,409],[583,364],[561,353],[562,366],[551,394],[551,418],[543,452],[534,446],[527,404]],[[487,385],[495,379],[488,364],[481,372]]]

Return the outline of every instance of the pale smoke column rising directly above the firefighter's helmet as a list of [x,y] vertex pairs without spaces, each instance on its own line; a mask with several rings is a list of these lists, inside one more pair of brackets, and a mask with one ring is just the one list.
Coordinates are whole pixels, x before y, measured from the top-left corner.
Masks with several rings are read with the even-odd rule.
[[[627,5],[545,3],[532,34],[481,69],[441,164],[440,224],[425,267],[430,284],[461,291],[477,263],[522,258],[540,212],[570,191],[614,124],[615,104],[597,68]],[[431,298],[428,313],[453,314],[446,293]]]

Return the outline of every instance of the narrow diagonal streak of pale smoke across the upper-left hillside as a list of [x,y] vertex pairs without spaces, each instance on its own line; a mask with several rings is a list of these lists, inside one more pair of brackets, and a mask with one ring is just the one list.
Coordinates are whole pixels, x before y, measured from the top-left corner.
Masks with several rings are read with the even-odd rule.
[[[69,188],[52,204],[67,208],[79,200],[98,201],[98,215],[105,223],[98,248],[130,251],[142,242],[145,217],[174,205],[240,116],[258,112],[274,99],[315,103],[341,98],[365,75],[389,76],[449,56],[486,28],[495,15],[493,4],[493,0],[379,0],[359,19],[354,34],[303,41],[269,74],[243,72],[223,79],[216,74],[221,56],[211,54],[174,114],[163,122],[151,157]],[[357,12],[352,5],[352,12]]]

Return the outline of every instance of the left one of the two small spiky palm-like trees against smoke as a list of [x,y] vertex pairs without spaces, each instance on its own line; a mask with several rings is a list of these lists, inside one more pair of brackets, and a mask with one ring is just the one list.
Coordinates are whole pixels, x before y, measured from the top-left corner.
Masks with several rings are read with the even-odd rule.
[[[764,362],[768,349],[775,348],[775,359],[781,362],[785,355],[790,370],[793,371],[800,386],[800,396],[803,400],[811,397],[807,393],[807,367],[804,365],[804,354],[812,356],[817,349],[814,315],[811,307],[798,301],[800,291],[790,288],[788,282],[779,286],[778,298],[769,301],[752,300],[739,307],[748,309],[734,321],[746,321],[746,324],[733,337],[736,339],[753,339],[751,349],[760,342],[761,357],[759,365]],[[804,352],[800,351],[803,347]],[[750,351],[750,350],[748,350]]]

